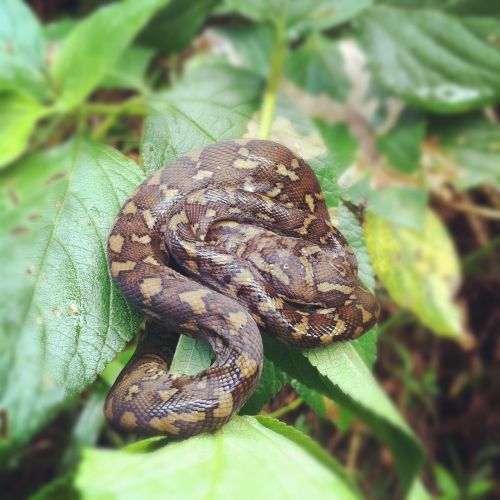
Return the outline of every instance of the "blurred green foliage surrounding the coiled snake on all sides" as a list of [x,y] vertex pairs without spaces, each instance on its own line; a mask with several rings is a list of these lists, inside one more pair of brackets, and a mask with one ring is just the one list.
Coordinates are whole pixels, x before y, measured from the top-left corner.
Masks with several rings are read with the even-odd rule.
[[[2,497],[500,495],[499,48],[489,0],[0,0]],[[119,435],[102,404],[142,318],[109,278],[113,218],[242,136],[310,162],[382,321],[322,350],[265,337],[214,435]],[[181,339],[172,370],[208,364]]]

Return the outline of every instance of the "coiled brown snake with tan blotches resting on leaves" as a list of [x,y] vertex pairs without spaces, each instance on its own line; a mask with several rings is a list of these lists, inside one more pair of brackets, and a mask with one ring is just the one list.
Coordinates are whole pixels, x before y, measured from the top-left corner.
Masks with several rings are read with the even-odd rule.
[[[359,337],[380,314],[313,170],[272,141],[211,144],[157,170],[121,208],[107,251],[146,318],[104,405],[125,432],[214,431],[256,388],[261,331],[320,347]],[[181,334],[209,344],[210,367],[169,371]]]

